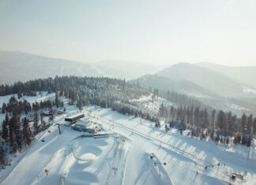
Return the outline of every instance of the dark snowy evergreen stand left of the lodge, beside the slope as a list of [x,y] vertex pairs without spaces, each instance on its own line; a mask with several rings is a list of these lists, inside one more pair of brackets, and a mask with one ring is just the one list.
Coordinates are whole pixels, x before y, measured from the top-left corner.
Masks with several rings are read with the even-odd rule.
[[[63,102],[59,102],[60,106],[62,104]],[[33,102],[31,105],[25,99],[23,101],[17,101],[14,96],[9,98],[8,103],[3,103],[2,113],[6,113],[6,118],[2,121],[2,130],[0,133],[0,165],[2,167],[7,163],[6,154],[8,151],[12,154],[17,151],[21,152],[23,146],[29,146],[31,144],[34,135],[50,126],[43,119],[43,113],[39,113],[39,111],[46,108],[52,109],[55,105],[55,102],[51,102],[50,100],[41,101],[40,103]],[[28,114],[31,113],[32,116],[30,117],[32,120],[29,120]],[[49,121],[53,120],[52,116],[49,117]],[[33,124],[29,125],[31,121]]]

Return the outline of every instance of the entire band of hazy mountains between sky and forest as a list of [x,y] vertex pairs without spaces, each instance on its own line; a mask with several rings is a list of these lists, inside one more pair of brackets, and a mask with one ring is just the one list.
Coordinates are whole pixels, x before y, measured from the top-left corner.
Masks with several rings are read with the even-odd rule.
[[197,98],[215,109],[256,112],[256,67],[197,64],[149,65],[131,61],[83,63],[58,58],[0,51],[0,83],[49,76],[109,76],[132,80],[141,87],[175,91]]

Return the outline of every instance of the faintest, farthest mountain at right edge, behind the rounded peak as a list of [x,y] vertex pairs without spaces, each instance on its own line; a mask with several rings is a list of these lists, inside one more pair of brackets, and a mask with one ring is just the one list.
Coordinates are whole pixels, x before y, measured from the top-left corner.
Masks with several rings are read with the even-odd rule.
[[215,65],[208,62],[200,62],[196,65],[203,68],[214,69],[218,72],[223,72],[228,76],[232,76],[236,80],[247,83],[251,87],[256,88],[256,66],[227,66]]

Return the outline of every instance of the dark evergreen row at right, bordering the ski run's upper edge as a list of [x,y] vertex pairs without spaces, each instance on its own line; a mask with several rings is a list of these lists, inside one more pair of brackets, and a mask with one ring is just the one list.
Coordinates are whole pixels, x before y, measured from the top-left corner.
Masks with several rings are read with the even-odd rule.
[[243,113],[242,117],[237,117],[223,110],[213,109],[209,113],[207,108],[200,109],[199,106],[168,108],[162,104],[159,116],[169,120],[170,128],[178,128],[179,131],[189,129],[191,136],[201,139],[209,136],[210,139],[223,143],[233,139],[235,144],[250,146],[251,139],[256,137],[256,118],[252,114],[248,117]]

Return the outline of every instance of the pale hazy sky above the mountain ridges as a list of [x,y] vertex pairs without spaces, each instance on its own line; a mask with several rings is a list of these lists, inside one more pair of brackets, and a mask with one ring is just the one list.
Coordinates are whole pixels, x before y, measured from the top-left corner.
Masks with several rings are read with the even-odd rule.
[[255,0],[0,0],[0,50],[256,65]]

